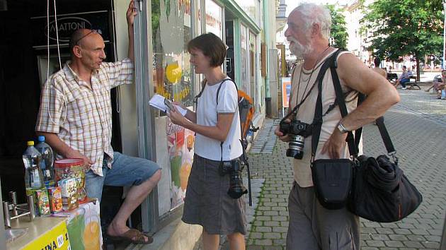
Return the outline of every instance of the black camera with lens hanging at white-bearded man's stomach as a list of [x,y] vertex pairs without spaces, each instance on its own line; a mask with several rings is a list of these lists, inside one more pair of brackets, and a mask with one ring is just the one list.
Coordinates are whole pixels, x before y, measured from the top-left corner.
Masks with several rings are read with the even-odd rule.
[[283,135],[290,134],[290,143],[288,143],[287,157],[302,159],[304,157],[304,140],[311,135],[311,124],[306,124],[297,119],[292,121],[280,121],[279,129]]

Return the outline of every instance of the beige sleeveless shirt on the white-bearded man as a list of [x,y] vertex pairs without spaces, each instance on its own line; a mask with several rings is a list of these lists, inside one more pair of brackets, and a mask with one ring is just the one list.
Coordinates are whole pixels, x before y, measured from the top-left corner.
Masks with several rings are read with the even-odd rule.
[[[331,52],[327,56],[324,57],[324,59],[321,59],[321,61],[315,66],[314,72],[312,69],[307,71],[302,68],[302,64],[296,67],[294,71],[294,75],[292,76],[293,81],[291,85],[291,100],[290,100],[290,108],[293,108],[296,106],[297,103],[302,100],[302,98],[307,95],[309,89],[311,86],[315,83],[317,75],[319,74],[319,70],[321,69],[321,65],[324,64],[324,61],[328,56],[331,56],[335,51]],[[350,52],[341,52],[338,55],[341,56],[341,54],[350,53]],[[301,73],[302,71],[302,73]],[[331,73],[330,69],[328,69],[325,73],[324,79],[322,81],[322,114],[325,114],[326,110],[330,105],[332,105],[336,100],[336,93],[333,87],[333,81],[331,80]],[[300,77],[299,77],[300,75]],[[300,80],[299,80],[300,78]],[[343,92],[347,93],[351,89],[348,88],[348,86],[345,85],[345,83],[340,79],[341,81],[341,87],[343,88]],[[300,82],[300,83],[299,83]],[[299,89],[299,90],[298,90]],[[305,90],[307,89],[307,90]],[[307,100],[305,100],[304,104],[299,107],[299,111],[297,112],[297,119],[300,121],[303,121],[307,124],[311,124],[314,118],[314,111],[316,107],[316,100],[318,95],[318,88],[317,83],[316,86],[314,86],[313,90],[311,90],[311,93],[309,93],[309,96],[307,97]],[[351,102],[348,102],[348,100],[351,100],[353,97],[355,97],[354,100]],[[297,102],[299,100],[299,102]],[[346,97],[346,103],[348,112],[350,113],[353,109],[356,108],[357,105],[357,98],[355,95],[355,91],[352,91],[348,97]],[[331,110],[331,112],[328,112],[323,117],[324,122],[322,123],[321,127],[321,135],[319,137],[319,144],[317,146],[316,150],[316,159],[328,159],[327,154],[321,154],[322,147],[324,147],[324,143],[328,141],[328,138],[330,138],[331,133],[333,133],[334,129],[338,126],[338,122],[341,120],[341,112],[339,111],[339,107],[336,105],[336,107]],[[360,154],[362,154],[362,141],[360,142]],[[348,147],[347,143],[341,148],[341,158],[348,158]],[[313,180],[311,178],[311,168],[310,168],[310,162],[311,162],[311,136],[308,136],[305,138],[304,141],[304,157],[302,160],[293,160],[293,174],[295,181],[299,186],[301,187],[307,187],[307,186],[313,186]]]

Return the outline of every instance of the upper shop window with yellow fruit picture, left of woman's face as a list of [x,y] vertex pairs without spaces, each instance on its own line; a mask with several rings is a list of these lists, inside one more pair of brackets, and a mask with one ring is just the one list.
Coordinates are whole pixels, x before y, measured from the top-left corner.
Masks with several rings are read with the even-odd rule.
[[190,0],[151,1],[154,93],[193,105],[190,55]]

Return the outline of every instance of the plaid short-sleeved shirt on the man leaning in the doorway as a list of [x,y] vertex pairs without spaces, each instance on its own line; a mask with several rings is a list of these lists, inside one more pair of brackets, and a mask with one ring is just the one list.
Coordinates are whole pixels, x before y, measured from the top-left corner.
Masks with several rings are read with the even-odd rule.
[[91,76],[91,87],[67,62],[42,88],[35,131],[57,133],[64,143],[89,157],[94,162],[93,172],[102,176],[104,153],[108,167],[113,161],[110,89],[132,81],[130,59],[101,64]]

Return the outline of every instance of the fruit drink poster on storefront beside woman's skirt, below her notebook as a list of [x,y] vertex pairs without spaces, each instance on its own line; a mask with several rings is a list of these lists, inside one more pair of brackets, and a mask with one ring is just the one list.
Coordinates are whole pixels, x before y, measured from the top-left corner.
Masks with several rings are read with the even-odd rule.
[[171,167],[171,209],[183,204],[193,161],[195,133],[167,121],[167,149]]

